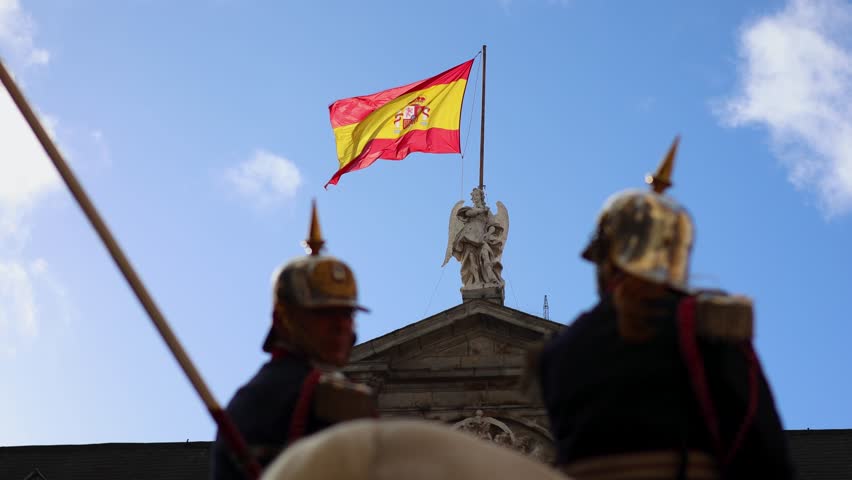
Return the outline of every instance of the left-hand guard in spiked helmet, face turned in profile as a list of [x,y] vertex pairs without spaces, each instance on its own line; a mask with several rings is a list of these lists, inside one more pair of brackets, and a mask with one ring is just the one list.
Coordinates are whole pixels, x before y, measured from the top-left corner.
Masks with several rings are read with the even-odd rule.
[[[375,415],[369,387],[347,380],[358,304],[352,270],[321,255],[324,240],[313,205],[308,255],[279,268],[273,278],[272,325],[263,342],[271,359],[234,395],[227,412],[264,468],[290,443],[332,424]],[[211,477],[243,478],[217,436]]]

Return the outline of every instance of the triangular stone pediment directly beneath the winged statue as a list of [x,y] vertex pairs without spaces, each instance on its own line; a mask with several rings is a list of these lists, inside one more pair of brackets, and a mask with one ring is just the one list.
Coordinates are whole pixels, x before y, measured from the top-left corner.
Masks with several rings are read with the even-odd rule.
[[560,328],[562,324],[503,305],[471,300],[355,346],[350,361],[405,368],[423,359],[517,357]]

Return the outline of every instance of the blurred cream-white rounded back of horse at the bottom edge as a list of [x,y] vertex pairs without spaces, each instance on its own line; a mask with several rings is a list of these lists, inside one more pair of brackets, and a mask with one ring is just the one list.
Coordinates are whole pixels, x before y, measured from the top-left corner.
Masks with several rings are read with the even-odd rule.
[[304,438],[262,480],[568,480],[521,453],[423,420],[357,420]]

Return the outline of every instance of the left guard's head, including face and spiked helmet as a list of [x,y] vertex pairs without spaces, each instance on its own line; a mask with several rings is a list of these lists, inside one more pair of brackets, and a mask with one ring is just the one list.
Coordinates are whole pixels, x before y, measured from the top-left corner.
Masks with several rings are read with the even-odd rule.
[[355,311],[367,309],[358,304],[349,266],[319,254],[323,243],[314,206],[305,242],[309,254],[288,262],[273,277],[273,325],[263,349],[284,347],[319,362],[343,366],[355,342]]

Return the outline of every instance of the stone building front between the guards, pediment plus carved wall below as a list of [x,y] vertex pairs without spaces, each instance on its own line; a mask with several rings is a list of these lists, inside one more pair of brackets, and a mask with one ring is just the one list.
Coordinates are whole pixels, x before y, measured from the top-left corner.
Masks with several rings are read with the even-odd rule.
[[549,462],[544,406],[520,380],[527,351],[561,328],[472,299],[355,346],[345,371],[376,390],[381,416],[444,422]]

